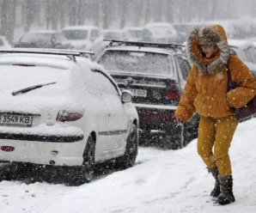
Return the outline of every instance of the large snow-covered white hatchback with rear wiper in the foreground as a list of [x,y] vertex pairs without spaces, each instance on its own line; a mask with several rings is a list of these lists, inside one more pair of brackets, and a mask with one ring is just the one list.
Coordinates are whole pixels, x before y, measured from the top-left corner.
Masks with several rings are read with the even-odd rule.
[[39,49],[0,55],[0,161],[76,168],[82,182],[92,180],[96,163],[133,166],[138,116],[131,92],[79,56]]

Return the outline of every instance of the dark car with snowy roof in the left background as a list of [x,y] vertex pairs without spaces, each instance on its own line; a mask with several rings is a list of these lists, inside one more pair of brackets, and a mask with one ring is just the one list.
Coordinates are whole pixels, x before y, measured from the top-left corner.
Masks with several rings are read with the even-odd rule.
[[31,31],[21,36],[15,47],[70,49],[70,42],[53,30]]

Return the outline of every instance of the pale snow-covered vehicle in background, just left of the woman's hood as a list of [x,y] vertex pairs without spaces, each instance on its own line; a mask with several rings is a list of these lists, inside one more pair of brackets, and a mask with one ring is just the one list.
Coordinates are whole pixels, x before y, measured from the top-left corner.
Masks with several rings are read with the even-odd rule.
[[178,32],[171,23],[168,22],[149,22],[145,25],[152,33],[152,40],[162,43],[177,42]]

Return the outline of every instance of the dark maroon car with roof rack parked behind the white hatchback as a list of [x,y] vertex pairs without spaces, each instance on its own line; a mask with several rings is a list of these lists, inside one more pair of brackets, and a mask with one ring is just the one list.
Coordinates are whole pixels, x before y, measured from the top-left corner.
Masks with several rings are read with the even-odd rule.
[[129,89],[134,95],[141,136],[163,133],[162,144],[169,149],[186,146],[198,130],[196,114],[184,131],[176,127],[174,111],[191,69],[179,49],[180,46],[172,44],[116,40],[96,58],[119,88]]

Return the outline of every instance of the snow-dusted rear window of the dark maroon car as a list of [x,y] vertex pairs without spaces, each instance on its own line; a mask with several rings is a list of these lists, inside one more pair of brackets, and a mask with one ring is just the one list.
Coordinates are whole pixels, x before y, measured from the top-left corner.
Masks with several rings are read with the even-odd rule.
[[155,52],[107,51],[98,63],[110,71],[171,73],[168,55]]

